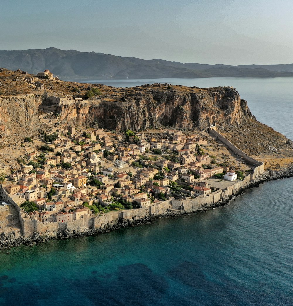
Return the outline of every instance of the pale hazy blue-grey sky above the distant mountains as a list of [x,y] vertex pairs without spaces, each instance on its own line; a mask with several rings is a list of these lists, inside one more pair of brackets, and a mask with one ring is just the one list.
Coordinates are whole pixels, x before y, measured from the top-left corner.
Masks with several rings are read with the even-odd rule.
[[292,0],[0,0],[0,49],[293,63]]

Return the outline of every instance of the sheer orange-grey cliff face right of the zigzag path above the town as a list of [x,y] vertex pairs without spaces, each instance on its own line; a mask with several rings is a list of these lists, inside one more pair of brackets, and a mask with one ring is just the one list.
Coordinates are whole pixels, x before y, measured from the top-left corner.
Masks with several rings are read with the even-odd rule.
[[60,123],[98,125],[118,131],[163,126],[204,129],[212,124],[231,129],[252,117],[247,102],[240,99],[233,88],[190,88],[188,91],[153,89],[152,92],[137,92],[119,99],[60,106]]

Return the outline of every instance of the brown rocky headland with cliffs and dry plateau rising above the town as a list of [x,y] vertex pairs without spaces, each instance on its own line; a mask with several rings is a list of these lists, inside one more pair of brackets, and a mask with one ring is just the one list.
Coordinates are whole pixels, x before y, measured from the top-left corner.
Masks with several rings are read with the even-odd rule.
[[[228,139],[250,154],[291,148],[284,135],[255,119],[234,88],[170,84],[113,88],[42,80],[45,89],[39,89],[23,79],[21,72],[0,72],[0,137],[5,145],[68,125],[140,131],[203,130],[217,124]],[[93,91],[92,99],[82,100]]]

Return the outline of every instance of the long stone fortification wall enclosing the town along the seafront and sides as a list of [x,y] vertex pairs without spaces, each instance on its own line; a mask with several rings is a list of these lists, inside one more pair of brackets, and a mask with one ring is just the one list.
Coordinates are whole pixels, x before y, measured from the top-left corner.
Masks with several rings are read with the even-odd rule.
[[143,207],[131,210],[109,211],[99,216],[83,215],[82,218],[71,222],[40,222],[37,219],[29,218],[28,214],[23,211],[19,205],[24,202],[22,196],[9,196],[3,186],[0,184],[0,196],[7,203],[14,205],[19,211],[22,235],[24,237],[32,237],[34,233],[39,233],[47,237],[56,237],[58,235],[70,236],[82,235],[86,233],[104,232],[120,226],[127,226],[139,222],[150,221],[153,218],[170,215],[171,213],[192,212],[202,208],[214,206],[221,200],[229,199],[229,197],[238,194],[250,182],[255,181],[259,174],[263,173],[263,163],[259,162],[243,151],[234,146],[229,140],[213,129],[209,128],[211,135],[215,136],[223,144],[225,144],[233,153],[243,158],[247,163],[254,166],[252,173],[244,177],[242,181],[237,181],[225,189],[219,189],[206,196],[187,197],[182,199],[169,199],[150,207]]

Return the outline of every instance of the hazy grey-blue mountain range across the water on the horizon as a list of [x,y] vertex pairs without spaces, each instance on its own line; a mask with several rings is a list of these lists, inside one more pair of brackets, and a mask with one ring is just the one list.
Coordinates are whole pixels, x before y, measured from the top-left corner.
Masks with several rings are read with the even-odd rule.
[[37,73],[49,69],[62,79],[152,79],[200,77],[277,77],[293,76],[287,65],[208,65],[144,60],[111,54],[60,50],[57,48],[0,50],[0,67]]

